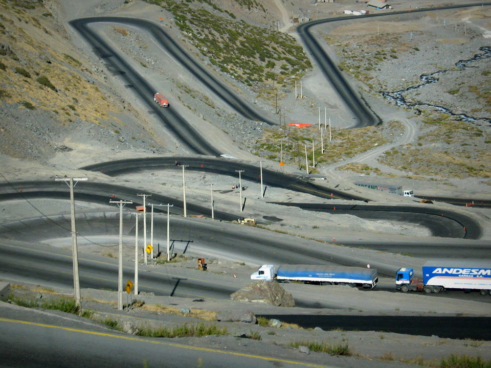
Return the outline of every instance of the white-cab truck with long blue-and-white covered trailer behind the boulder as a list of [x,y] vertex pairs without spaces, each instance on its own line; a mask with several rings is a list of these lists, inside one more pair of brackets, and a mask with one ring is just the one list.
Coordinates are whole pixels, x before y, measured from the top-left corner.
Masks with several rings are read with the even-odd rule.
[[304,284],[349,285],[373,289],[378,282],[376,269],[326,265],[262,265],[251,280],[292,281]]

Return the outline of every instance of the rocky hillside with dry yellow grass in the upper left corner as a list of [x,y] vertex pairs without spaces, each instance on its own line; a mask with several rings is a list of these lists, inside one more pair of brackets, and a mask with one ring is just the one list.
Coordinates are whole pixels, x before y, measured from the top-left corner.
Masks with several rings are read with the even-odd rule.
[[[0,152],[47,160],[76,134],[113,146],[148,145],[145,119],[111,90],[38,1],[0,3]],[[153,144],[150,139],[150,144]]]

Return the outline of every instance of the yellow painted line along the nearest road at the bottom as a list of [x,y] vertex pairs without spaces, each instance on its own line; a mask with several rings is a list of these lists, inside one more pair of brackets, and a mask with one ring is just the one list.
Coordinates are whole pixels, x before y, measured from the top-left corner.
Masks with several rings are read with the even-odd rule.
[[160,344],[160,345],[165,345],[165,346],[174,347],[174,348],[189,349],[189,350],[196,350],[196,351],[203,351],[203,352],[217,353],[217,354],[235,355],[235,356],[242,356],[242,357],[246,357],[246,358],[269,360],[269,361],[286,363],[286,364],[302,365],[302,366],[306,366],[306,367],[329,368],[327,365],[303,363],[303,362],[294,361],[294,360],[278,359],[278,358],[264,357],[264,356],[260,356],[260,355],[252,355],[252,354],[244,354],[244,353],[235,353],[235,352],[218,350],[218,349],[198,348],[198,347],[188,346],[188,345],[184,345],[184,344],[158,341],[156,339],[149,340],[149,339],[143,339],[143,338],[139,338],[139,337],[122,336],[122,335],[110,334],[110,333],[105,333],[105,332],[94,332],[94,331],[88,331],[88,330],[79,330],[79,329],[74,329],[74,328],[70,328],[70,327],[46,325],[46,324],[23,321],[23,320],[18,320],[18,319],[10,319],[10,318],[0,317],[0,321],[8,322],[8,323],[14,323],[14,324],[23,324],[23,325],[30,325],[30,326],[46,327],[46,328],[51,328],[51,329],[58,329],[58,330],[63,330],[63,331],[83,333],[83,334],[102,336],[102,337],[114,337],[114,338],[129,340],[129,341],[138,341],[138,342]]

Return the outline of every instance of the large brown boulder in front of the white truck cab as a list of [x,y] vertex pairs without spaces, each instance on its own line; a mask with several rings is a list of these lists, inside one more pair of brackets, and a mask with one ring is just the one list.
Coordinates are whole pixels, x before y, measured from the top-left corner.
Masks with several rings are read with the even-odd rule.
[[276,281],[255,281],[230,295],[234,301],[270,304],[277,307],[295,307],[295,301]]

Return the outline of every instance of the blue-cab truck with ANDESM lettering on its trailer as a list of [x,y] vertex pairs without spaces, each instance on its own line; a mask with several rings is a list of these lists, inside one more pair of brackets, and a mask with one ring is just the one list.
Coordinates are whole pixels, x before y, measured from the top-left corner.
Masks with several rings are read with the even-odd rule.
[[491,294],[491,262],[473,260],[430,260],[423,267],[423,279],[414,277],[412,268],[397,271],[397,290],[439,293],[447,289],[465,292],[479,290],[481,295]]

